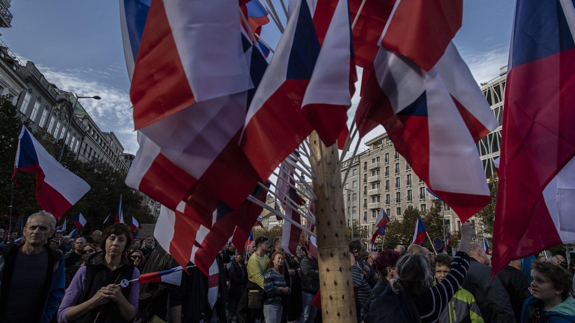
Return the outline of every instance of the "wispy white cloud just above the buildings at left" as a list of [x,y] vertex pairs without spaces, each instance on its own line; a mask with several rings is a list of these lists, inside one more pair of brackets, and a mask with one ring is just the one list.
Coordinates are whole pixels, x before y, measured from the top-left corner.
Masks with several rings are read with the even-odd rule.
[[[57,70],[37,64],[38,69],[48,79],[63,91],[82,95],[99,95],[102,99],[82,99],[79,103],[94,119],[100,130],[114,132],[124,150],[135,153],[139,147],[132,118],[132,102],[128,89],[122,89],[99,79],[125,77],[127,74],[117,66],[107,68],[109,72],[78,68]],[[91,70],[91,71],[90,71]]]

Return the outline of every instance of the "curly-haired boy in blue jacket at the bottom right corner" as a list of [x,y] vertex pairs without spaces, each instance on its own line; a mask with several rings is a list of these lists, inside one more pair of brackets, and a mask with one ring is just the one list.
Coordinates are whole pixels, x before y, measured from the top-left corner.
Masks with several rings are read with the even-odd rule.
[[569,296],[573,278],[561,266],[535,262],[531,266],[533,295],[523,305],[521,322],[575,322],[575,299]]

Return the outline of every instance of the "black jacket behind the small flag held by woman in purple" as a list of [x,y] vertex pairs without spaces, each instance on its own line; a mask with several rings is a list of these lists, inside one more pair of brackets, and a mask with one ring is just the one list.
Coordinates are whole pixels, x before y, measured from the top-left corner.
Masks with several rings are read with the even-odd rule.
[[[178,267],[175,259],[161,246],[156,247],[150,257],[146,259],[144,271],[141,274]],[[143,314],[145,322],[150,320],[154,314],[162,320],[166,320],[169,285],[167,283],[145,283],[140,285],[138,307]]]

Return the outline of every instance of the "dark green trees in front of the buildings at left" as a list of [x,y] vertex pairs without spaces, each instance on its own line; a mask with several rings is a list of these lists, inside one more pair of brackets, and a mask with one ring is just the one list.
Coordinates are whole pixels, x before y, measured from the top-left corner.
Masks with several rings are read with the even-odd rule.
[[[5,97],[0,98],[0,198],[5,207],[0,209],[0,221],[6,225],[9,221],[10,176],[14,171],[14,159],[18,145],[18,134],[22,122],[17,116],[16,106],[12,105]],[[55,140],[45,128],[39,128],[33,133],[36,140],[57,160],[64,140]],[[66,146],[62,154],[62,165],[78,175],[90,185],[90,190],[74,206],[70,208],[59,221],[63,224],[64,218],[70,218],[82,212],[87,220],[85,232],[102,229],[102,222],[112,214],[116,214],[120,195],[122,195],[122,208],[124,221],[131,221],[135,216],[140,223],[154,223],[154,218],[148,207],[142,205],[143,196],[128,187],[125,183],[126,174],[114,170],[112,166],[100,160],[89,162],[76,160],[75,153]],[[36,203],[36,174],[18,171],[17,186],[14,186],[13,219],[16,216],[27,217],[40,210]],[[81,230],[82,231],[82,230]]]

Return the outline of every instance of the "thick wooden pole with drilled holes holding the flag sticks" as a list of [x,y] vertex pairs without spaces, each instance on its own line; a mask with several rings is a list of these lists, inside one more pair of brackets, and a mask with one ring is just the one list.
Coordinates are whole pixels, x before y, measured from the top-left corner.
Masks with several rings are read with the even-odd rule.
[[[333,205],[338,201],[338,196],[343,194],[338,147],[335,144],[325,147],[315,131],[309,136],[309,145],[312,149],[310,153],[319,156],[318,160],[321,160],[319,164],[310,160],[310,164],[319,175],[313,179],[313,190],[317,196],[315,216],[323,321],[355,322],[354,283],[351,278],[343,200],[339,199],[338,205]],[[332,186],[333,177],[337,179]]]

